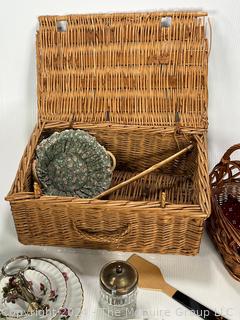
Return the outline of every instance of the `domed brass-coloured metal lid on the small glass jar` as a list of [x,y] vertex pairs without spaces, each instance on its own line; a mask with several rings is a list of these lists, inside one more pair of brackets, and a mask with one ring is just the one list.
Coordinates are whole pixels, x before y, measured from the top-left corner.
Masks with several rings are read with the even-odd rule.
[[110,262],[100,272],[101,287],[113,295],[128,294],[137,287],[137,283],[137,270],[125,261]]

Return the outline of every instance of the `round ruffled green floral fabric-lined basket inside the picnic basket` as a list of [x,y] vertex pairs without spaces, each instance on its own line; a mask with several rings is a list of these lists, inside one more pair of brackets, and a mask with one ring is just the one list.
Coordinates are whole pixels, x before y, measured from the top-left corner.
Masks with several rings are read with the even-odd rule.
[[55,132],[37,146],[36,174],[44,194],[94,198],[111,184],[112,157],[83,130]]

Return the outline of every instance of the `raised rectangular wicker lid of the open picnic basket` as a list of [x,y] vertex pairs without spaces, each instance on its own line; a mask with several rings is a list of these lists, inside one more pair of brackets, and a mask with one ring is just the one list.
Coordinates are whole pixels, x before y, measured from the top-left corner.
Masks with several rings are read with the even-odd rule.
[[39,118],[206,129],[205,16],[39,17]]

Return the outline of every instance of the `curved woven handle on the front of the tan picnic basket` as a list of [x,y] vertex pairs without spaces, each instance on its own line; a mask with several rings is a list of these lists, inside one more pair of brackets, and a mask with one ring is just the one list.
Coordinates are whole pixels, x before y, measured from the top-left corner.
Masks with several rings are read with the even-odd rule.
[[101,243],[121,242],[129,235],[131,230],[130,225],[126,225],[112,231],[95,232],[79,227],[77,221],[73,221],[73,228],[83,240]]

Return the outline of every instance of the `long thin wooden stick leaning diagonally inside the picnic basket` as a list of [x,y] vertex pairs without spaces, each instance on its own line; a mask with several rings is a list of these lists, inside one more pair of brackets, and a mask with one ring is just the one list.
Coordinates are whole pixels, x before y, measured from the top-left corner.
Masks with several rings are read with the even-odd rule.
[[173,154],[172,156],[168,157],[167,159],[154,164],[153,166],[151,166],[150,168],[148,168],[148,169],[144,170],[143,172],[137,174],[136,176],[134,176],[134,177],[132,177],[132,178],[126,180],[126,181],[123,181],[123,182],[119,183],[118,185],[116,185],[116,186],[114,186],[114,187],[112,187],[112,188],[100,193],[94,199],[101,199],[101,198],[113,193],[114,191],[119,190],[119,189],[127,186],[128,184],[130,184],[130,183],[132,183],[132,182],[134,182],[134,181],[146,176],[147,174],[159,169],[160,167],[164,166],[165,164],[175,160],[176,158],[180,157],[182,154],[186,153],[187,151],[191,150],[192,148],[193,148],[193,145],[190,144],[188,147],[180,150],[179,152],[177,152],[177,153]]

